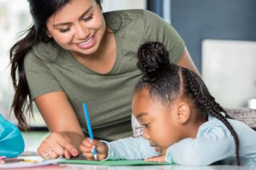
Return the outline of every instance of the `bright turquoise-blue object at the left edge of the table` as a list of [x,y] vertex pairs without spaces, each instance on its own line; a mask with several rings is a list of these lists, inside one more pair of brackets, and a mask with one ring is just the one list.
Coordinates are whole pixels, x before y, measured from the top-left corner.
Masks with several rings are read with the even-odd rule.
[[21,131],[0,115],[0,156],[6,158],[18,157],[25,144]]

